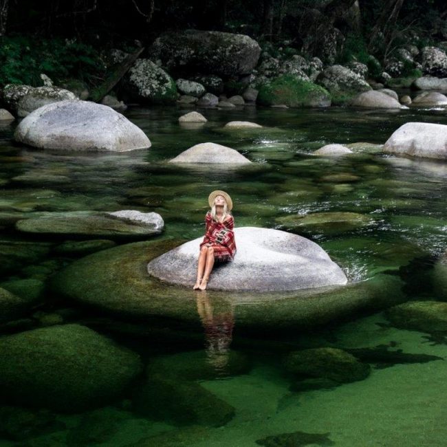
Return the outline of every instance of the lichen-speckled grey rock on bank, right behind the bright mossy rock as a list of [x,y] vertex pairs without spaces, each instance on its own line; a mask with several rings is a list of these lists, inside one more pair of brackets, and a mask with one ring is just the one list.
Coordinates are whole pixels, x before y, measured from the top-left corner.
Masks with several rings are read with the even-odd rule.
[[318,76],[317,82],[331,94],[332,102],[347,102],[363,91],[371,90],[371,86],[361,76],[342,65],[331,65]]

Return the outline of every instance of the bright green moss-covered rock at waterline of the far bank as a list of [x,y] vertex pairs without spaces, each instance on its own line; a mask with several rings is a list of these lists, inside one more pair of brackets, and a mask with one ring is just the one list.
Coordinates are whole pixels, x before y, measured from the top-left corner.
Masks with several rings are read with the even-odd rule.
[[261,105],[285,104],[288,107],[328,107],[329,92],[293,75],[283,75],[259,87],[257,102]]

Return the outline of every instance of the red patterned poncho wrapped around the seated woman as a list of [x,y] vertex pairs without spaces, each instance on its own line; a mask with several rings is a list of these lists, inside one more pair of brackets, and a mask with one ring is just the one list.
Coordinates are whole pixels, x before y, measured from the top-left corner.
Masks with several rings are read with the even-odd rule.
[[204,240],[200,244],[202,248],[205,244],[210,244],[214,248],[215,261],[232,261],[236,254],[235,220],[230,215],[224,222],[217,222],[212,219],[208,211],[205,216],[206,233]]

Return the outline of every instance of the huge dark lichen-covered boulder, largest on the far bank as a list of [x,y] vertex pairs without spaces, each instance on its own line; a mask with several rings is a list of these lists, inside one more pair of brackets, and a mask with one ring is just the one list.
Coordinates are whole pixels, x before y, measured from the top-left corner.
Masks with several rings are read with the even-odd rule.
[[162,34],[149,53],[174,72],[237,76],[252,72],[261,47],[243,34],[186,30]]

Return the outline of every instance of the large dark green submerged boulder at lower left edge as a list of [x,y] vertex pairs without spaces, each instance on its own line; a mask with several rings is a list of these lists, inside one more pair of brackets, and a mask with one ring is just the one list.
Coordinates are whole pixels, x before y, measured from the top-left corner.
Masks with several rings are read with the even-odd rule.
[[61,412],[113,402],[141,372],[137,354],[81,325],[0,338],[3,400]]

